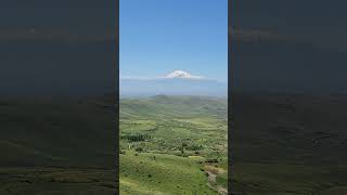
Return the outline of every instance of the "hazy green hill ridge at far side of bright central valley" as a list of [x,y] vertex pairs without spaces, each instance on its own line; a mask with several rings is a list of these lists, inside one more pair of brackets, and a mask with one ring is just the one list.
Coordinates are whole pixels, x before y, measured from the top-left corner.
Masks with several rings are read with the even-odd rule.
[[120,117],[216,116],[227,118],[224,98],[155,95],[144,99],[120,99]]

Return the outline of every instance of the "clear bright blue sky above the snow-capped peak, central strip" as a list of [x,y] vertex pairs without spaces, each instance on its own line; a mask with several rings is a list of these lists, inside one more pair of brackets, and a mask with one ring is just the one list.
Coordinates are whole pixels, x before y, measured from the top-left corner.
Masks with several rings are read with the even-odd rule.
[[228,79],[227,0],[119,0],[120,77]]

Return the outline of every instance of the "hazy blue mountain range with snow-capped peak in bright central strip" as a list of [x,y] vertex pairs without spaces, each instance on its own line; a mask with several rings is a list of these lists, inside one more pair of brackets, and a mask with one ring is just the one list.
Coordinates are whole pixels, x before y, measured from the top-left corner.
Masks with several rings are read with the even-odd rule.
[[227,96],[228,83],[175,70],[152,79],[120,78],[120,96],[203,95]]

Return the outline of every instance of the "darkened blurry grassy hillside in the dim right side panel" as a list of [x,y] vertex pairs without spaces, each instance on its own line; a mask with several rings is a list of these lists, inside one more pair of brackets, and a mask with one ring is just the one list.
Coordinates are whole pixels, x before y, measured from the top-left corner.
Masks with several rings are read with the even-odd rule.
[[346,194],[346,98],[235,92],[235,194]]

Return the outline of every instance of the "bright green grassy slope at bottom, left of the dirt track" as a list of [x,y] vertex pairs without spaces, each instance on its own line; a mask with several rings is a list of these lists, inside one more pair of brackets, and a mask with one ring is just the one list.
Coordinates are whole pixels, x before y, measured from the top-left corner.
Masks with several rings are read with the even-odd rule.
[[121,194],[216,194],[194,158],[131,152],[120,158]]

